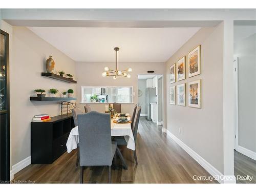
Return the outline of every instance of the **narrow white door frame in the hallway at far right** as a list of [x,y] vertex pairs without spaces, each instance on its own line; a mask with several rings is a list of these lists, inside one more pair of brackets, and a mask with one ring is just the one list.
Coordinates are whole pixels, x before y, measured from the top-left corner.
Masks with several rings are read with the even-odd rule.
[[234,150],[238,150],[238,64],[239,64],[239,58],[234,58],[233,60],[233,72],[234,72]]

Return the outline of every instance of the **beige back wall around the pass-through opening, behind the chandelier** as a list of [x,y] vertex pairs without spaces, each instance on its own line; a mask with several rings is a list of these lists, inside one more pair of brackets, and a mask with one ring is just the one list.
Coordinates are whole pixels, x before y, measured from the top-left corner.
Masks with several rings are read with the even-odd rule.
[[[133,69],[131,78],[120,77],[114,80],[112,77],[102,77],[104,67],[115,68],[115,63],[111,62],[76,62],[76,75],[77,75],[77,101],[81,102],[81,86],[133,86],[132,104],[122,104],[121,110],[127,113],[132,113],[133,106],[138,103],[138,74],[147,74],[148,70],[154,70],[156,74],[163,74],[165,64],[162,62],[149,62],[149,63],[118,63],[118,68]],[[80,103],[79,106],[83,110],[85,104]],[[104,103],[92,103],[92,110],[104,112]]]

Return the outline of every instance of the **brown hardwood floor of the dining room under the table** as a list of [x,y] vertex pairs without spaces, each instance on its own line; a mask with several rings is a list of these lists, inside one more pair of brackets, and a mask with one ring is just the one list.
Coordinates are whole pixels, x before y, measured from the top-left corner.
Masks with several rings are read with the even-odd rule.
[[[162,126],[140,118],[137,135],[137,158],[133,152],[121,148],[128,169],[112,169],[112,183],[218,183],[193,180],[193,176],[210,176],[166,134]],[[76,150],[65,153],[53,164],[31,164],[14,175],[15,181],[35,183],[79,183],[80,168],[75,167]],[[117,161],[120,164],[120,160]],[[87,167],[84,183],[108,183],[108,167]]]

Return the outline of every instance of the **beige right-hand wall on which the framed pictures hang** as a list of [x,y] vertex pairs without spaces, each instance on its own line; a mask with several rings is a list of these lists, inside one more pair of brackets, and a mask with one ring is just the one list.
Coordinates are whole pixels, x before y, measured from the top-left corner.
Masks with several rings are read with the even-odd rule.
[[[202,50],[202,72],[188,78],[187,55],[198,45]],[[223,25],[200,29],[166,62],[166,100],[169,99],[169,67],[184,55],[186,79],[172,86],[186,83],[186,106],[166,104],[167,130],[223,174]],[[202,109],[187,104],[188,82],[198,79],[202,79]]]

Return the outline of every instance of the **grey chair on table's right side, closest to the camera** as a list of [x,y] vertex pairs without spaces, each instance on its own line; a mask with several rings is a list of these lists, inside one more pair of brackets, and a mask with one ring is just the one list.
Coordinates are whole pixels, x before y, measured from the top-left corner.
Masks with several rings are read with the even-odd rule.
[[[135,119],[134,119],[134,123],[133,123],[133,127],[132,127],[133,137],[134,137],[134,142],[135,142],[135,151],[133,151],[133,154],[134,154],[136,165],[138,164],[137,154],[136,154],[136,142],[137,142],[137,133],[138,133],[139,120],[140,120],[140,113],[141,113],[141,107],[139,106],[139,107],[137,107],[137,111],[136,111],[136,115],[135,115]],[[124,136],[114,136],[114,137],[112,137],[112,140],[116,141],[117,145],[127,145],[127,142],[125,141]]]

